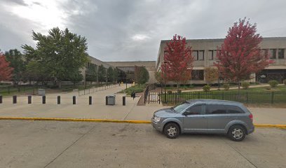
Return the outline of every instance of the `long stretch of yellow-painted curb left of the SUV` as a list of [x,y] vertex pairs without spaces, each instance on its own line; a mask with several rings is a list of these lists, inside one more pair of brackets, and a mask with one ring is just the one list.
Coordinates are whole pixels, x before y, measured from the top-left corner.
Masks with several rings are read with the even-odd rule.
[[109,120],[109,119],[86,119],[86,118],[11,118],[0,117],[0,120],[45,120],[45,121],[71,121],[71,122],[95,122],[95,123],[132,123],[150,124],[147,120]]

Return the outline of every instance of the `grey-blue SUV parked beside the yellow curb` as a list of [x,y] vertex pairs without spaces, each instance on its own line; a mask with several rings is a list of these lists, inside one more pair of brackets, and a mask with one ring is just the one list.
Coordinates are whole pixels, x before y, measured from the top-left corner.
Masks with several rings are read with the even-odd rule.
[[154,112],[151,123],[168,138],[181,133],[227,134],[242,141],[254,132],[252,113],[239,102],[214,99],[191,99],[178,106]]

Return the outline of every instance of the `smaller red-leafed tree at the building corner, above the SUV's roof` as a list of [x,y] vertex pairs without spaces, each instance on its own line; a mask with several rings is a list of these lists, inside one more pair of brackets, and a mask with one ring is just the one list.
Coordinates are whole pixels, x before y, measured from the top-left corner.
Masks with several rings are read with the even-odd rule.
[[173,36],[172,40],[166,44],[164,51],[164,62],[161,64],[164,81],[174,81],[184,83],[191,78],[193,68],[193,57],[191,56],[191,47],[186,45],[186,38],[182,36]]

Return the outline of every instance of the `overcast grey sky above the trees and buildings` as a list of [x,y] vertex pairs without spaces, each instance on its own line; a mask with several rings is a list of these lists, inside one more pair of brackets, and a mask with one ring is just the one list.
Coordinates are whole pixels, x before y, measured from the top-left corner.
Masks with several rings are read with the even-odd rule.
[[239,18],[264,37],[286,36],[285,0],[0,0],[0,49],[35,46],[32,30],[68,28],[102,61],[156,60],[161,40],[224,38]]

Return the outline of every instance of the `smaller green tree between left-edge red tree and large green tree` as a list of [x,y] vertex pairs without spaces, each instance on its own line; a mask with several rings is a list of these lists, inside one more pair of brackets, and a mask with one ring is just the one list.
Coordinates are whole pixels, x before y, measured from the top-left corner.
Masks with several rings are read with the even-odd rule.
[[12,80],[15,85],[23,79],[23,73],[25,71],[25,62],[21,52],[17,49],[9,50],[5,52],[6,60],[10,62],[10,67],[12,67],[13,75]]

